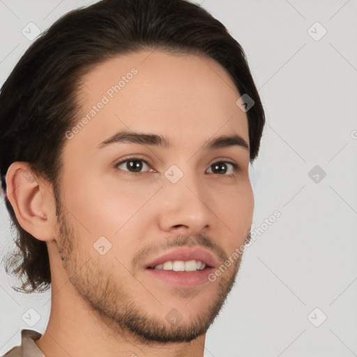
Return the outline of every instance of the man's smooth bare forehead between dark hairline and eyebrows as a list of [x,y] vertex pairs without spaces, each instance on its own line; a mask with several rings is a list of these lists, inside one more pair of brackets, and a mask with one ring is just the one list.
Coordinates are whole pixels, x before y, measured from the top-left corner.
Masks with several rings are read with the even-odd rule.
[[181,144],[187,144],[183,136],[190,142],[234,131],[249,142],[240,96],[213,59],[158,50],[116,56],[82,78],[78,120],[84,125],[71,142],[94,149],[118,130],[155,132]]

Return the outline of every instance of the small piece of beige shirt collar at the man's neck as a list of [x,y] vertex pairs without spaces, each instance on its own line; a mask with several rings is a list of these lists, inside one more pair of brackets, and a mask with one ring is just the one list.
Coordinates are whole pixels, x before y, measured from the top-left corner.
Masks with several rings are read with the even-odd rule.
[[38,349],[35,340],[42,336],[41,333],[34,330],[21,330],[21,344],[15,346],[6,352],[2,357],[45,357]]

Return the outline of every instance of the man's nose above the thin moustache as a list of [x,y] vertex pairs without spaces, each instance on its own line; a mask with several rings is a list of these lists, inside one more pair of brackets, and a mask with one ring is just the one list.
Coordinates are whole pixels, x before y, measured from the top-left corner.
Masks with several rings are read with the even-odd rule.
[[165,182],[161,194],[159,222],[162,230],[195,236],[213,225],[213,203],[197,178],[184,175],[177,183]]

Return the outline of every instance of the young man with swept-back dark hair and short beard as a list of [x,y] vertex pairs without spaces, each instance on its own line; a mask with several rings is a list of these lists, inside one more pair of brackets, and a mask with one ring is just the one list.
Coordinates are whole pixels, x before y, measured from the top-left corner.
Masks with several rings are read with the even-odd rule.
[[0,102],[9,266],[52,292],[45,333],[5,356],[204,356],[264,128],[236,40],[188,1],[103,0],[36,40]]

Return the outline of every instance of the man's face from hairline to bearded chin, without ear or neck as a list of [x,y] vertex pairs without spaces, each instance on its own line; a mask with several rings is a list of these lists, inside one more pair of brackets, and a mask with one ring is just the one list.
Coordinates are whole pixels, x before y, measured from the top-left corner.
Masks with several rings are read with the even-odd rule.
[[[241,94],[215,61],[159,51],[110,59],[82,83],[79,119],[90,119],[63,149],[56,241],[66,278],[106,326],[143,340],[190,341],[212,324],[241,257],[215,281],[208,274],[245,243],[252,224],[248,149],[232,140],[208,147],[232,135],[249,144]],[[169,146],[132,136],[102,144],[123,131],[159,135]],[[202,271],[148,268],[182,248],[213,259]],[[167,261],[192,260],[177,257]]]

